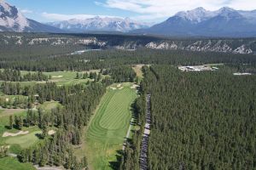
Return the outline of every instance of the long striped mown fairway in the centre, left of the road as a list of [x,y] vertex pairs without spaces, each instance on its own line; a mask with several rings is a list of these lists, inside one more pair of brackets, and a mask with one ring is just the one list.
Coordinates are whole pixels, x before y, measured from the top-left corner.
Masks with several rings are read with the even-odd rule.
[[131,121],[131,104],[137,98],[132,83],[108,88],[86,132],[86,155],[90,168],[112,169],[117,150],[122,150]]

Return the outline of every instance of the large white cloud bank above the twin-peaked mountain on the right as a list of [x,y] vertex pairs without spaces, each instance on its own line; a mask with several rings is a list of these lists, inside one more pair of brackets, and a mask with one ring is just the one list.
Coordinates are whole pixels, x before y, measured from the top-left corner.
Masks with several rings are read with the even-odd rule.
[[216,10],[224,6],[237,9],[255,9],[255,0],[106,0],[106,3],[98,3],[108,8],[119,8],[134,12],[137,19],[154,20],[170,17],[179,11],[203,7],[208,10]]

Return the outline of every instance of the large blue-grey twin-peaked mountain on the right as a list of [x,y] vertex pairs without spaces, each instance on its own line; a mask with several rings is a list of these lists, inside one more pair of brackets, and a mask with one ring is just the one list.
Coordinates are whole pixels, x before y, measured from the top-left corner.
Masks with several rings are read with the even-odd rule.
[[256,37],[256,10],[195,8],[175,14],[148,29],[133,31],[183,37]]

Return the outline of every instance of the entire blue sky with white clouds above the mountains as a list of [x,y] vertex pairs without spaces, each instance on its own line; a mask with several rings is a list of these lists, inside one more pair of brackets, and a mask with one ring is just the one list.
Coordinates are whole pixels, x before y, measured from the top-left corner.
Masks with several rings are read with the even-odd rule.
[[6,0],[27,18],[40,22],[86,19],[95,16],[129,17],[160,22],[179,11],[198,7],[217,10],[230,7],[256,9],[256,0]]

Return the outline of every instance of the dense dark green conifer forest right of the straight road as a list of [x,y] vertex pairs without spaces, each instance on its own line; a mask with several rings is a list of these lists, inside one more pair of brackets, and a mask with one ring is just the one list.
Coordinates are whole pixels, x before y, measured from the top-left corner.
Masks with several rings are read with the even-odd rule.
[[254,169],[256,77],[144,70],[152,94],[149,169]]

